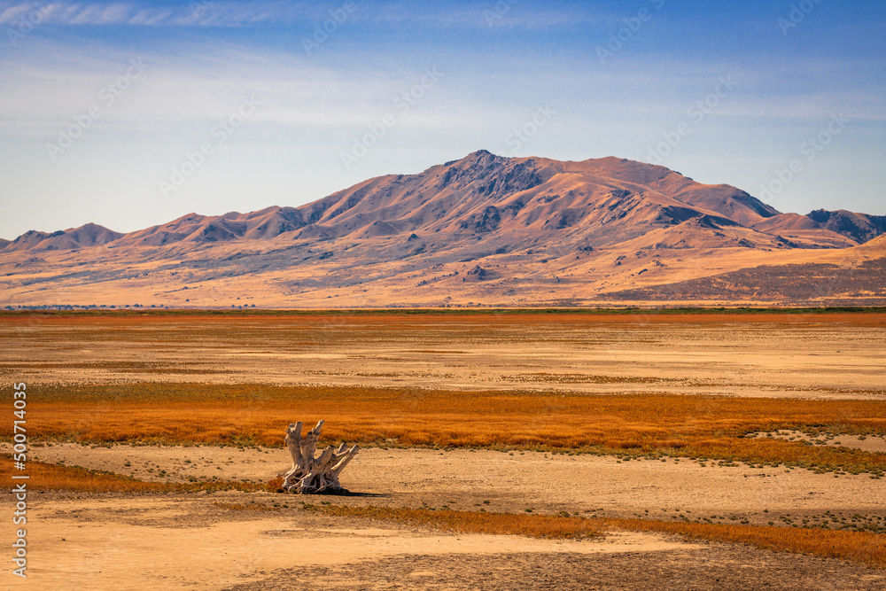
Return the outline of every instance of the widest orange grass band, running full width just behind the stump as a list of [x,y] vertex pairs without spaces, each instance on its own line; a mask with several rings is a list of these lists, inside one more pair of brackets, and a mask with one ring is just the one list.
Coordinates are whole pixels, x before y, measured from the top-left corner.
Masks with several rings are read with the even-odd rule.
[[[671,455],[874,478],[886,470],[886,454],[746,437],[779,429],[882,436],[886,400],[135,384],[42,386],[28,402],[30,437],[83,443],[282,446],[286,424],[323,418],[330,443]],[[0,425],[0,437],[11,439],[12,424]]]

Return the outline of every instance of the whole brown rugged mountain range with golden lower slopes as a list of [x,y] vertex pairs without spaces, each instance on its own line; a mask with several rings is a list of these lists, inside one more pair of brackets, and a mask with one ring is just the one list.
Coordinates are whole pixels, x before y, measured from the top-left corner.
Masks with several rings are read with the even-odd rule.
[[5,305],[876,305],[886,216],[618,158],[473,152],[299,207],[0,241]]

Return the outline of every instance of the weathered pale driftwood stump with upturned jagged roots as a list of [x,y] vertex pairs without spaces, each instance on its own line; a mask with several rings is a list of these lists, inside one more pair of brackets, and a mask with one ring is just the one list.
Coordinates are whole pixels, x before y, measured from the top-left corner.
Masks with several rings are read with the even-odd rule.
[[292,468],[284,474],[283,489],[297,494],[318,493],[346,493],[345,488],[338,483],[338,474],[357,455],[359,447],[347,448],[345,443],[338,447],[329,446],[318,457],[314,457],[317,450],[317,439],[320,439],[320,430],[323,429],[323,421],[317,423],[314,429],[307,432],[304,439],[301,437],[301,421],[289,424],[286,428],[286,446],[292,455]]

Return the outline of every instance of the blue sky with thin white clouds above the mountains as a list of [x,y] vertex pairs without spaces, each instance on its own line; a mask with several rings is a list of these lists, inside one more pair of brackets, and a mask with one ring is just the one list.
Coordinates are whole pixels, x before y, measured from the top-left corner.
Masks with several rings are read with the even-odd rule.
[[886,3],[720,4],[0,2],[0,237],[298,206],[480,148],[886,214]]

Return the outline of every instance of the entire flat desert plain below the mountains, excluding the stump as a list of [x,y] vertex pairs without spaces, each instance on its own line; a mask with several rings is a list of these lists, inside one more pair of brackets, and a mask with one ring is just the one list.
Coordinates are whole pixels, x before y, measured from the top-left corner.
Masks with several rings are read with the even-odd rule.
[[[882,311],[14,313],[9,588],[880,589]],[[284,429],[361,446],[279,492]],[[12,539],[12,523],[4,527]],[[12,563],[10,563],[12,564]]]

